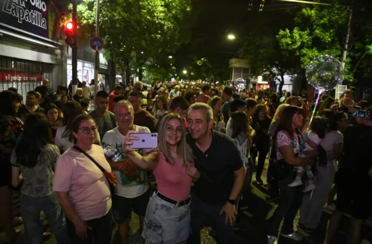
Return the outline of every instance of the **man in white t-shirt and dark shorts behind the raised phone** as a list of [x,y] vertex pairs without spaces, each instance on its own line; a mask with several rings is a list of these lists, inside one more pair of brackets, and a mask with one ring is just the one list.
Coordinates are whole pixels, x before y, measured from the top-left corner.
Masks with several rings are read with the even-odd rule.
[[[113,216],[119,225],[118,230],[122,243],[127,244],[129,242],[129,219],[132,210],[139,218],[138,232],[141,233],[143,230],[144,217],[149,202],[149,184],[147,172],[139,168],[137,168],[137,174],[133,181],[127,178],[124,173],[125,168],[132,163],[128,162],[127,156],[123,153],[123,143],[129,130],[134,130],[137,133],[150,133],[150,129],[133,124],[133,107],[126,100],[121,100],[115,105],[115,112],[118,127],[106,132],[102,144],[115,146],[124,159],[119,162],[112,162],[109,159],[107,161],[118,182],[118,192],[112,195]],[[147,154],[148,151],[150,150],[138,149],[138,153],[141,155]]]

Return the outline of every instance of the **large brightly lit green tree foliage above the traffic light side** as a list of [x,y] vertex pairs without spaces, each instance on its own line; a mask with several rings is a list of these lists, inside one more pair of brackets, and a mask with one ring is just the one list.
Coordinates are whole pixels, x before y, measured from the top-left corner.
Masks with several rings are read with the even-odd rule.
[[[95,33],[95,0],[78,6],[79,27],[87,36]],[[100,35],[105,37],[106,56],[118,68],[142,67],[147,60],[161,59],[175,52],[190,38],[188,19],[191,0],[101,1]]]

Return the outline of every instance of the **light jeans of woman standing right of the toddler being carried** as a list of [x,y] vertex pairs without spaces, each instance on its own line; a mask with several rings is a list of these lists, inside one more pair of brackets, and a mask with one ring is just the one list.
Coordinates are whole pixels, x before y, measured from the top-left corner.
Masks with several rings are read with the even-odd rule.
[[316,229],[318,227],[323,207],[327,202],[328,193],[331,190],[335,178],[335,167],[318,167],[318,174],[314,177],[316,188],[304,194],[303,203],[299,209],[299,223],[306,228]]

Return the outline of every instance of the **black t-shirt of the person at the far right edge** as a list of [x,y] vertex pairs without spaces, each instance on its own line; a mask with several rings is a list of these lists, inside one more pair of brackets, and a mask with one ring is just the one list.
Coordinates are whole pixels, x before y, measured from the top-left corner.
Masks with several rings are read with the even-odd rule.
[[351,180],[372,183],[368,175],[372,167],[372,127],[349,124],[343,131],[343,138],[344,153],[339,167],[339,177],[346,182]]

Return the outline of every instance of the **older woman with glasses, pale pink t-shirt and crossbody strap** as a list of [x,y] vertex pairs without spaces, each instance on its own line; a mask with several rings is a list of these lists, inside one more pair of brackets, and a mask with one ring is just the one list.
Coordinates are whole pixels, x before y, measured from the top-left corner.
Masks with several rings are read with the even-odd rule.
[[66,214],[72,243],[109,244],[111,192],[104,173],[91,160],[111,172],[102,147],[94,144],[98,127],[89,115],[79,115],[72,122],[72,131],[70,139],[75,146],[66,150],[57,161],[53,190]]

